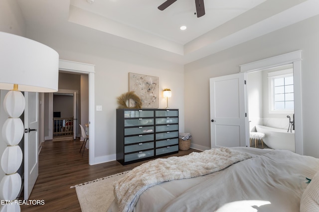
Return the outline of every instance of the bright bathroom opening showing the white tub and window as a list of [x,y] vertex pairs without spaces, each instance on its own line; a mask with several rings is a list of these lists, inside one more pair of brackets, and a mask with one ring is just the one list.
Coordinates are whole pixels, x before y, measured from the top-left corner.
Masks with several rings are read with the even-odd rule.
[[247,74],[249,132],[264,133],[266,148],[296,152],[293,74],[293,64]]

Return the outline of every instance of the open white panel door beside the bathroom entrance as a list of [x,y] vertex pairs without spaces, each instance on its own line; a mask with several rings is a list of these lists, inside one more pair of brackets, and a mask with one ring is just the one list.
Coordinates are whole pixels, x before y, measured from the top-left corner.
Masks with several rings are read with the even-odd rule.
[[210,78],[211,148],[246,146],[245,73]]

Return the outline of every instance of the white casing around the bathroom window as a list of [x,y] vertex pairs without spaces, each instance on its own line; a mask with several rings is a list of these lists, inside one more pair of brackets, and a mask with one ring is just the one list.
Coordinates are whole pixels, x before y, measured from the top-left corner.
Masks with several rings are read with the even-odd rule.
[[[285,69],[281,71],[268,72],[268,98],[269,98],[269,113],[287,114],[294,113],[291,109],[275,109],[275,95],[274,95],[274,79],[294,76],[294,69]],[[295,102],[295,100],[294,100]]]

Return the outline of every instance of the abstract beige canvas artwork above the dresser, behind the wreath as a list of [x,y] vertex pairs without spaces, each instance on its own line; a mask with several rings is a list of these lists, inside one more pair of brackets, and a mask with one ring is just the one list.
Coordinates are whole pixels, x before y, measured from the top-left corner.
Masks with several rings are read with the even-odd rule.
[[[142,101],[143,108],[159,108],[159,78],[129,73],[129,91],[134,91]],[[130,100],[129,106],[135,106]]]

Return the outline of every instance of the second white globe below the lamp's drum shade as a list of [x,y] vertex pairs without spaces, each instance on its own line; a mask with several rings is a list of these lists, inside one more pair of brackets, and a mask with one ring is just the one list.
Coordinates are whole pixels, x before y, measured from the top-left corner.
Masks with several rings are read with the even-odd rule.
[[8,118],[2,126],[2,138],[7,145],[17,145],[23,137],[23,122],[20,118]]

